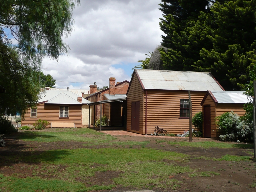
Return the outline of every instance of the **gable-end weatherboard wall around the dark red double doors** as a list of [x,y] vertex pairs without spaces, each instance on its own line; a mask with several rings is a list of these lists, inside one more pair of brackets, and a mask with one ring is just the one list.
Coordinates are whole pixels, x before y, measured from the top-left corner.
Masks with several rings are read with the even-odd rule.
[[[140,101],[140,131],[131,130],[131,117],[132,117],[132,102]],[[139,79],[136,73],[133,76],[132,84],[130,85],[129,92],[127,94],[127,124],[126,130],[145,134],[143,129],[143,89],[140,85]]]

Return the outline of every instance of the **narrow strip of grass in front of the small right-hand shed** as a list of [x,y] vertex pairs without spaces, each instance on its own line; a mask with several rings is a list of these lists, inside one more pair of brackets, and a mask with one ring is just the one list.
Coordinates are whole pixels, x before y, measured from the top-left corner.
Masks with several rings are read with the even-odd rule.
[[201,141],[201,142],[189,142],[189,141],[168,141],[167,144],[172,146],[188,146],[196,148],[253,148],[253,143],[249,144],[237,144],[231,142],[215,142],[215,141]]

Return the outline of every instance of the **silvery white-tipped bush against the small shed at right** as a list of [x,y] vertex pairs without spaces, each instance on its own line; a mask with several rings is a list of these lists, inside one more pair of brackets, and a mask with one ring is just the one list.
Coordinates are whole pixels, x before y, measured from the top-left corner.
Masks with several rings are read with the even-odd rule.
[[253,123],[245,123],[245,121],[233,111],[223,113],[221,116],[216,117],[216,120],[217,131],[221,134],[220,140],[253,140]]

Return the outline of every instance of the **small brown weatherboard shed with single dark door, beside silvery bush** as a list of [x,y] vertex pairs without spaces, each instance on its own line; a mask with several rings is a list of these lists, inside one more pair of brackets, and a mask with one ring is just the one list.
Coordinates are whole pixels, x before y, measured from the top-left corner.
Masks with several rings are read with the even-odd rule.
[[217,139],[215,118],[225,112],[234,111],[239,116],[245,114],[244,104],[250,100],[243,91],[210,91],[201,102],[203,109],[203,136]]

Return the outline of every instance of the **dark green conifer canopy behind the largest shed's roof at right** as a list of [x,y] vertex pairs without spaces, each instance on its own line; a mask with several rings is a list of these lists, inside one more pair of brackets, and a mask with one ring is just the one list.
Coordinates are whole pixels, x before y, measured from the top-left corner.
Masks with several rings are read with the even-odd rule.
[[240,90],[255,65],[256,2],[162,0],[164,69],[205,71],[225,90]]

